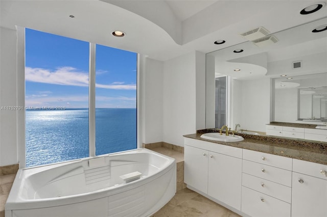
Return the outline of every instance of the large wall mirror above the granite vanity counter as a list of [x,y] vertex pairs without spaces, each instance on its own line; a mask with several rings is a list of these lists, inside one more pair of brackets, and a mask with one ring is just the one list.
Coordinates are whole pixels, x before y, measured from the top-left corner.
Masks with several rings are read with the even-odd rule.
[[325,17],[207,53],[206,127],[215,127],[215,78],[222,75],[229,78],[226,122],[232,129],[240,124],[264,134],[271,121],[325,124],[327,31],[312,30],[326,24]]

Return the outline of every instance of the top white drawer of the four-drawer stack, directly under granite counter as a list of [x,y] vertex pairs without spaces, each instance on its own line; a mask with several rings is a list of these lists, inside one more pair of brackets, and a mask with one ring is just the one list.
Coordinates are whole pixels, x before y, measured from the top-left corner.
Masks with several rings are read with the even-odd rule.
[[292,170],[292,158],[243,149],[243,159],[260,164]]

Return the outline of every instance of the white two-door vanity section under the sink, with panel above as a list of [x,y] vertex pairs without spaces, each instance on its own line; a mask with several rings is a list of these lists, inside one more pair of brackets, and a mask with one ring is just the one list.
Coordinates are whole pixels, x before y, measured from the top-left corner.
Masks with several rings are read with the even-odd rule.
[[240,210],[242,149],[185,138],[184,182]]

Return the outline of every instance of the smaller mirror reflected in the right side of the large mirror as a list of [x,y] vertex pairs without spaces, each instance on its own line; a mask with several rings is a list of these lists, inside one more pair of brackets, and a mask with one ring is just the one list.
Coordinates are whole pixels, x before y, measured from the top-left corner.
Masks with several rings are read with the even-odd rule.
[[274,121],[327,122],[327,73],[274,78]]

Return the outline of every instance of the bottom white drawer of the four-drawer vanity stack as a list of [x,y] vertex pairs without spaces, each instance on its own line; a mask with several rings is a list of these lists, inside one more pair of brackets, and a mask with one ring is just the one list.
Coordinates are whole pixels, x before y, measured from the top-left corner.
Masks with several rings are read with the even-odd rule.
[[250,216],[291,216],[291,204],[242,186],[241,211]]

